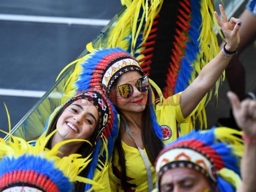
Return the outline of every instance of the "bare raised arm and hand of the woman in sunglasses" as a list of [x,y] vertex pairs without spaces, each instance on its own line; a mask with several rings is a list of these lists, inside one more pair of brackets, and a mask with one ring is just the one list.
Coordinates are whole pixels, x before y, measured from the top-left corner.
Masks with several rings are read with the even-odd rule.
[[[233,52],[240,41],[238,30],[242,22],[233,17],[228,21],[222,5],[219,5],[219,10],[223,21],[220,20],[217,12],[214,12],[214,14],[227,42],[225,48],[227,51]],[[213,60],[207,63],[195,80],[183,91],[180,104],[183,117],[186,118],[206,95],[207,91],[214,86],[229,64],[231,58],[232,56],[225,58],[225,55],[220,51]]]

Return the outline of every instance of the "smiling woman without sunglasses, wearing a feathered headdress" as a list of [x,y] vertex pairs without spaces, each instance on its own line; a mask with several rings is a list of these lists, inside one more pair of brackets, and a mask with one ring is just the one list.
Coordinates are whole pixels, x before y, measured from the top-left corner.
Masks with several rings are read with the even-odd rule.
[[[114,139],[118,134],[117,112],[108,98],[99,90],[77,93],[56,108],[50,116],[43,135],[48,136],[52,132],[55,133],[46,144],[49,149],[70,139],[88,141],[63,144],[60,146],[58,156],[76,153],[86,158],[92,154],[91,162],[80,176],[100,181],[102,189],[96,190],[93,186],[93,190],[108,191],[110,188],[107,161],[110,159]],[[96,173],[97,177],[94,177]],[[84,192],[91,187],[88,183],[76,182],[74,191]]]

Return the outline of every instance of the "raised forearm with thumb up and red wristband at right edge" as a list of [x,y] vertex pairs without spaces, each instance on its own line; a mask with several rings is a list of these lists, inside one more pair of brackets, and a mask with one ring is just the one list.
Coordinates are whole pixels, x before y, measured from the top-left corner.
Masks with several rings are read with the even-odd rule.
[[239,101],[238,96],[229,92],[233,115],[244,134],[244,155],[241,163],[242,185],[237,192],[256,190],[256,101]]

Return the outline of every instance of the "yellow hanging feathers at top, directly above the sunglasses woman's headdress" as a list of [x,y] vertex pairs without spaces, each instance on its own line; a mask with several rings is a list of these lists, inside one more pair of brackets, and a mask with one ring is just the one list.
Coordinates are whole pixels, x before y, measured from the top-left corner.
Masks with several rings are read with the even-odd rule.
[[163,0],[134,0],[122,3],[127,6],[127,10],[114,27],[108,48],[120,47],[134,56],[152,33],[154,19],[161,9]]

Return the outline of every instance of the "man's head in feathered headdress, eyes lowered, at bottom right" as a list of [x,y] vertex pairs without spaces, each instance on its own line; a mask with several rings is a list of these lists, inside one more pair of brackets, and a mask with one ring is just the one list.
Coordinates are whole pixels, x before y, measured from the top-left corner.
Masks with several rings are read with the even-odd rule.
[[242,140],[234,134],[241,133],[228,128],[213,128],[193,131],[167,144],[155,164],[158,190],[234,192],[239,185],[239,154],[242,150]]

